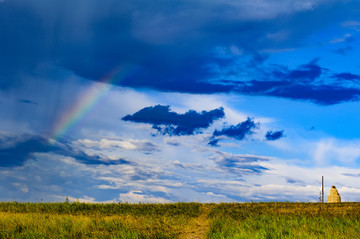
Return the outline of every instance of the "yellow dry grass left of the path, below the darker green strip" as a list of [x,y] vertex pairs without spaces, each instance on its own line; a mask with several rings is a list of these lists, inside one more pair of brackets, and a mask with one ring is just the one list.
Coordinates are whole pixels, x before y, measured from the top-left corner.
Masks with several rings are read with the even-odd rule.
[[0,238],[177,238],[185,217],[0,212]]

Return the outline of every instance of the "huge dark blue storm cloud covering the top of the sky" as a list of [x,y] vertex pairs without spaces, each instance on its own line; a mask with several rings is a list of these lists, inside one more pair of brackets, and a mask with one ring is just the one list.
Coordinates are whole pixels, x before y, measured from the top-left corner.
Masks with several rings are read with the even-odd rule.
[[[132,70],[114,81],[161,91],[238,92],[330,105],[359,99],[359,91],[315,83],[316,62],[284,72],[264,71],[264,49],[297,48],[334,19],[357,19],[360,3],[326,1],[85,1],[11,0],[0,4],[0,89],[21,84],[41,64],[100,80],[119,66]],[[239,14],[241,13],[241,14]],[[294,27],[296,26],[296,27]],[[286,37],[276,37],[286,32]],[[281,35],[281,34],[280,34]],[[217,47],[241,50],[224,57]],[[238,67],[239,58],[250,58]],[[227,74],[254,77],[224,84]],[[297,90],[299,88],[299,91]],[[329,99],[326,95],[335,95]]]

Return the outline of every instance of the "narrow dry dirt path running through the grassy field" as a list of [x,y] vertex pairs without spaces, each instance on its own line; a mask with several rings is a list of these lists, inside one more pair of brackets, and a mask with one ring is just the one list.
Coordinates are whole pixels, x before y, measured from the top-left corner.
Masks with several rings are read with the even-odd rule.
[[209,231],[210,223],[207,218],[211,208],[203,205],[203,212],[196,218],[191,219],[184,233],[180,235],[180,239],[201,239],[206,238]]

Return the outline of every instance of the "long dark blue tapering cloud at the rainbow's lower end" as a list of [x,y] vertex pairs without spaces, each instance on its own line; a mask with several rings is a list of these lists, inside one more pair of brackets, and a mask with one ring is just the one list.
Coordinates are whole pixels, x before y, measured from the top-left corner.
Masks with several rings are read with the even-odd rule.
[[0,167],[21,166],[27,160],[33,159],[35,153],[54,153],[73,157],[84,164],[130,164],[124,159],[109,161],[100,156],[90,156],[69,143],[51,144],[48,139],[35,135],[0,137],[0,145]]

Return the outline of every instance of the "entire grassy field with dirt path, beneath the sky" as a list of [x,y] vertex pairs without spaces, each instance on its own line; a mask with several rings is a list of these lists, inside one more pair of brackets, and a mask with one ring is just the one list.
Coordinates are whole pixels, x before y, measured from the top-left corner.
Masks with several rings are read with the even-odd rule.
[[0,203],[0,238],[359,238],[360,203]]

